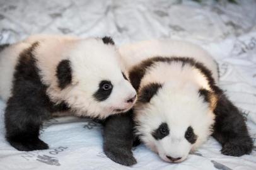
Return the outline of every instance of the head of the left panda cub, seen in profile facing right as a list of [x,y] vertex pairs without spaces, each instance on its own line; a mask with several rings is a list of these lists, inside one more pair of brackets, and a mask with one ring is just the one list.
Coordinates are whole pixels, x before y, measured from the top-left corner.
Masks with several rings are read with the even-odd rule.
[[[43,50],[44,43],[40,45]],[[45,80],[52,101],[64,101],[77,115],[98,118],[125,112],[134,105],[136,91],[125,77],[111,38],[65,40],[59,51],[64,51],[64,57],[55,66],[55,81]]]

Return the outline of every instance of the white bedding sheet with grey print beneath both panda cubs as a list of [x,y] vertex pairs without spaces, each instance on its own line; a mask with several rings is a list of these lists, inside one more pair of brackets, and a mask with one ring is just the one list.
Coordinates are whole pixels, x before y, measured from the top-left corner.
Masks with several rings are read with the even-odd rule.
[[[238,0],[237,0],[238,1]],[[117,45],[173,38],[197,43],[220,67],[220,86],[247,120],[256,145],[256,1],[238,4],[214,0],[0,0],[0,44],[35,33],[80,37],[110,35]],[[48,150],[20,152],[4,139],[4,107],[0,101],[0,169],[256,169],[251,155],[224,156],[209,139],[179,164],[170,164],[146,149],[134,148],[137,164],[112,162],[102,150],[102,126],[86,118],[55,118],[44,123],[41,139]]]

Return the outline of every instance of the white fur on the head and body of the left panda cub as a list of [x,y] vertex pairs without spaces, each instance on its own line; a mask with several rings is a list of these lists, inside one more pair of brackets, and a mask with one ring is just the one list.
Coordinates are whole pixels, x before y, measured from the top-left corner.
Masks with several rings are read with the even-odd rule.
[[[136,91],[129,81],[122,76],[120,55],[114,45],[106,45],[100,38],[79,39],[76,37],[60,36],[33,36],[24,42],[18,43],[18,47],[11,45],[1,52],[0,64],[0,95],[3,99],[11,96],[10,88],[14,66],[18,55],[32,43],[39,42],[33,51],[37,59],[37,67],[40,70],[42,82],[49,86],[47,94],[55,103],[66,101],[76,115],[105,118],[114,114],[113,110],[129,110],[133,103],[127,103]],[[20,47],[22,44],[24,47]],[[64,59],[71,61],[72,83],[65,89],[60,89],[57,84],[56,68]],[[8,78],[2,74],[9,72]],[[111,81],[112,93],[105,101],[99,102],[93,98],[102,80]]]

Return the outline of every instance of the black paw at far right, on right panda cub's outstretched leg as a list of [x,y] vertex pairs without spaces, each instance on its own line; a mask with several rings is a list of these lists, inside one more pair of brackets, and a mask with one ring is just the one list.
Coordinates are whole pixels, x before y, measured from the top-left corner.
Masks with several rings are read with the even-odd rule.
[[226,156],[243,156],[252,152],[252,141],[243,140],[242,142],[227,142],[223,145],[221,153]]

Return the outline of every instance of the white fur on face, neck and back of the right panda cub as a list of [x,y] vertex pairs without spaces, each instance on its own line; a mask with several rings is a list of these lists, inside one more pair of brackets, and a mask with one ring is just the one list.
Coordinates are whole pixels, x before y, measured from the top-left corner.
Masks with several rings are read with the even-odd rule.
[[[151,57],[191,57],[211,69],[218,81],[218,69],[214,60],[202,48],[191,43],[172,40],[153,40],[120,47],[125,66],[131,70],[136,64]],[[166,156],[186,159],[191,150],[197,149],[211,135],[214,114],[209,103],[199,96],[199,89],[211,91],[209,82],[199,69],[182,62],[157,62],[149,67],[141,80],[141,89],[151,82],[163,84],[149,103],[136,103],[134,106],[137,133],[149,149],[158,153],[164,161]],[[152,132],[161,123],[167,123],[168,136],[156,140]],[[195,144],[185,139],[185,132],[191,126],[197,135]]]

